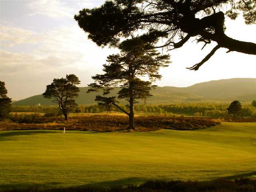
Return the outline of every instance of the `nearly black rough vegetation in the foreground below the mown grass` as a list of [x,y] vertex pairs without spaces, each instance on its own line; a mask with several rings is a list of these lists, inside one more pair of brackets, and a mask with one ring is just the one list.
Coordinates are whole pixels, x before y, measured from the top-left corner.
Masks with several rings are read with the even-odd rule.
[[9,192],[255,192],[256,180],[240,178],[235,180],[218,179],[210,182],[198,181],[147,181],[140,185],[113,186],[72,186],[66,188],[10,189]]

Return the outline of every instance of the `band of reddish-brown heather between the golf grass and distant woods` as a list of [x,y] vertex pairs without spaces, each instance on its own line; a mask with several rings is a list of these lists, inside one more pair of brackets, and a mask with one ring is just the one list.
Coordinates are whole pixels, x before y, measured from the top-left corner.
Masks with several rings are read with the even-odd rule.
[[[126,131],[128,127],[127,116],[116,115],[84,115],[74,116],[64,121],[61,117],[42,117],[42,123],[14,123],[2,122],[1,130],[33,130],[51,129],[84,130],[84,131]],[[202,117],[168,117],[168,116],[138,116],[135,118],[136,131],[154,131],[159,129],[196,130],[220,124],[212,118]]]

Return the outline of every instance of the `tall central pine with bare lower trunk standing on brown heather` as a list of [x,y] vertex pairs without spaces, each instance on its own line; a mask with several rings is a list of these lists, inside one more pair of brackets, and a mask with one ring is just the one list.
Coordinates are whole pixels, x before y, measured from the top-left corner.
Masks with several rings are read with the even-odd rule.
[[[134,129],[134,104],[137,99],[146,99],[150,94],[152,82],[160,79],[158,74],[160,67],[166,67],[170,63],[169,55],[161,55],[153,49],[153,43],[158,40],[154,33],[148,36],[139,36],[125,40],[118,45],[120,54],[108,56],[108,64],[104,64],[102,75],[92,78],[95,83],[90,84],[88,92],[103,89],[103,95],[109,94],[115,86],[120,86],[118,97],[96,96],[100,106],[110,109],[113,105],[129,116],[129,129]],[[148,76],[150,81],[140,80],[139,77]],[[129,111],[118,106],[118,99],[128,102]]]

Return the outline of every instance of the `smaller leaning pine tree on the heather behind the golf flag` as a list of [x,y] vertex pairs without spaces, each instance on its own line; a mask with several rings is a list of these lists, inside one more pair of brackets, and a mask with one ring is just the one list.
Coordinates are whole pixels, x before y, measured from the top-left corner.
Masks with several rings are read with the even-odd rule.
[[74,74],[66,75],[66,78],[53,80],[52,84],[46,86],[43,96],[45,98],[54,98],[52,102],[58,103],[65,120],[68,120],[70,111],[77,107],[74,97],[78,96],[80,80]]

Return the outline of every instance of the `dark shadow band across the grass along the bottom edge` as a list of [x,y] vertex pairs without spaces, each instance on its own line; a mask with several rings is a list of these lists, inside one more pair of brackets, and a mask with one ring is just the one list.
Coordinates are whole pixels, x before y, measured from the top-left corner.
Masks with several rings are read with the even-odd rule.
[[[241,174],[253,176],[255,172]],[[114,181],[97,182],[80,186],[62,187],[64,183],[28,185],[3,185],[0,192],[256,192],[256,179],[238,178],[235,180],[219,178],[211,181],[196,180],[146,180],[145,178],[124,178]],[[59,185],[59,186],[58,186]]]

